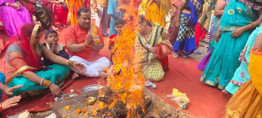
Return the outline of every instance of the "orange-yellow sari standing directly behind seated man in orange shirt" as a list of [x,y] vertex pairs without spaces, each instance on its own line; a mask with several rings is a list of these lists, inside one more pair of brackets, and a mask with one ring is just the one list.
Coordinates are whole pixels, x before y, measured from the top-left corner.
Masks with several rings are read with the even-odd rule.
[[71,25],[78,23],[77,21],[77,10],[83,7],[82,0],[66,0],[66,3],[70,10]]

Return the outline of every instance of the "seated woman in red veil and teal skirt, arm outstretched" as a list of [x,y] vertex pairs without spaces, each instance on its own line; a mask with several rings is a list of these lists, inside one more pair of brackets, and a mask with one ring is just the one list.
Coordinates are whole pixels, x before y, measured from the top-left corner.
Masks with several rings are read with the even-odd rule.
[[[15,90],[9,97],[21,95],[24,98],[39,95],[49,92],[49,89],[53,95],[61,96],[59,87],[64,84],[70,72],[68,66],[73,66],[80,72],[86,71],[83,64],[68,61],[48,50],[41,41],[42,31],[42,27],[38,24],[27,23],[22,26],[18,37],[10,39],[5,55],[6,84],[8,87],[24,86]],[[41,67],[42,56],[57,64]]]

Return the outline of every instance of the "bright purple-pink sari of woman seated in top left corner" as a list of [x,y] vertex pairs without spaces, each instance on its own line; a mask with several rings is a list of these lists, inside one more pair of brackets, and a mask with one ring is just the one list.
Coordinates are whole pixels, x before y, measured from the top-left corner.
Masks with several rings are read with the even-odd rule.
[[23,24],[31,23],[29,11],[15,0],[0,0],[0,19],[10,37],[18,35]]

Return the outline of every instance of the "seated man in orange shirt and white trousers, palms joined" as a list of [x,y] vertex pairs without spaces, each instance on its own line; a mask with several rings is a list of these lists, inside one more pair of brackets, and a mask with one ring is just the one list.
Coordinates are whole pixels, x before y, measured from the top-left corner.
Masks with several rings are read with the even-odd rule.
[[77,11],[78,23],[69,26],[64,34],[68,53],[72,56],[69,60],[84,64],[87,67],[85,73],[71,67],[73,79],[82,74],[87,77],[105,77],[104,68],[110,66],[110,61],[99,54],[104,48],[103,33],[91,23],[91,11],[87,8],[80,8]]

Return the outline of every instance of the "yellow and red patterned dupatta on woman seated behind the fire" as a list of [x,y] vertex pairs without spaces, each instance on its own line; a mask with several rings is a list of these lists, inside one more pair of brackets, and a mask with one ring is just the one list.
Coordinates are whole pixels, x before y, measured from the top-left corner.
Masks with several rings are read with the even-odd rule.
[[151,54],[149,49],[146,47],[150,44],[152,47],[156,48],[156,53],[158,59],[167,57],[173,51],[173,46],[170,44],[169,40],[163,40],[162,35],[164,34],[164,28],[158,23],[154,24],[151,35],[148,41],[143,39],[140,33],[137,34],[135,39],[135,60],[133,62],[134,68],[138,68],[140,65],[148,64],[151,62]]

